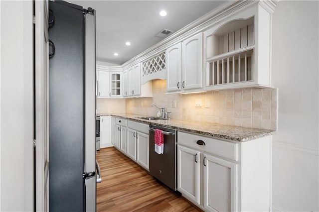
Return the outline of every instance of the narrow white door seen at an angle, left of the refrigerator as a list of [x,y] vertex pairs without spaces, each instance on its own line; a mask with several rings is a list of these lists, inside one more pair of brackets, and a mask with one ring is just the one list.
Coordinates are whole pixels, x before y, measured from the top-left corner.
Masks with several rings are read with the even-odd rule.
[[49,207],[48,1],[35,2],[35,208]]

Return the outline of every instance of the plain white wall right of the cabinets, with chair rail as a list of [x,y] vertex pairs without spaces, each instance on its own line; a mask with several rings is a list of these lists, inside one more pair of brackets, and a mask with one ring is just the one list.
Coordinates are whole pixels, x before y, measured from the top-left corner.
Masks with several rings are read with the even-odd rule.
[[273,15],[273,210],[319,211],[319,1],[282,0]]

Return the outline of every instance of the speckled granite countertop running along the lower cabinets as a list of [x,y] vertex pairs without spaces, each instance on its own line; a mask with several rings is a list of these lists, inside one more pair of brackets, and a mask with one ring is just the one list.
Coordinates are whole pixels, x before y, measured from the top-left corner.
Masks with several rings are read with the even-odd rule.
[[139,117],[145,115],[130,114],[130,113],[108,113],[100,115],[112,115],[128,120],[139,121],[146,124],[156,124],[159,126],[174,128],[177,131],[182,130],[186,132],[196,133],[205,136],[211,136],[217,139],[227,139],[231,141],[245,142],[254,140],[257,138],[273,135],[276,131],[269,129],[258,129],[251,127],[241,127],[232,125],[215,124],[201,121],[189,121],[189,120],[145,120]]

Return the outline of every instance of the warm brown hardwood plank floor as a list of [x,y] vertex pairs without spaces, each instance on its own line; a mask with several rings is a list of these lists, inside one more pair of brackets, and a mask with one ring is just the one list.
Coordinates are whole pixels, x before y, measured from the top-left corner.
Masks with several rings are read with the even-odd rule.
[[97,152],[102,183],[97,184],[98,212],[198,212],[160,185],[114,147]]

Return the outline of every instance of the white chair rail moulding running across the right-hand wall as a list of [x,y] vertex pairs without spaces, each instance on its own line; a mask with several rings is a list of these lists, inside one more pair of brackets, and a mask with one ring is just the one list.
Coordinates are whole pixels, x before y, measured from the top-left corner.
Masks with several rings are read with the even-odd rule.
[[308,154],[308,155],[319,156],[319,149],[308,148],[308,147],[305,147],[302,145],[291,144],[291,143],[284,142],[284,141],[274,141],[273,140],[273,148],[274,149],[275,148],[285,149],[285,150],[304,153],[304,154]]

